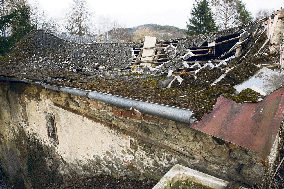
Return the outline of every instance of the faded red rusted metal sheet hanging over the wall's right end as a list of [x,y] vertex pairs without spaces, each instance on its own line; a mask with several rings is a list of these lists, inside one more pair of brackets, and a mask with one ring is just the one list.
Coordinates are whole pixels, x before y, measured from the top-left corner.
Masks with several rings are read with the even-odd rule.
[[214,107],[190,127],[267,157],[284,116],[284,88],[258,103],[238,104],[220,96]]

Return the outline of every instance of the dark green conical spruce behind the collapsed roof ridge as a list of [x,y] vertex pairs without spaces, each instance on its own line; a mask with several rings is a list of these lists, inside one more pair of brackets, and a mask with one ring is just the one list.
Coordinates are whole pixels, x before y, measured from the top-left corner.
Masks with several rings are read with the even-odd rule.
[[187,34],[190,36],[218,30],[208,0],[195,0],[195,2],[191,10],[191,18],[187,17],[189,21],[186,23]]

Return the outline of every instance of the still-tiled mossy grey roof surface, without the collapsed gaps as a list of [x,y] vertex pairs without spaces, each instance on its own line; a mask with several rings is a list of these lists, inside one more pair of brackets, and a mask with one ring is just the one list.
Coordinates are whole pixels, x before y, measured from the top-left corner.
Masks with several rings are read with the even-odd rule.
[[[200,46],[204,40],[211,42],[213,39],[244,31],[253,33],[258,26],[258,22],[253,22],[222,32],[181,38],[177,48],[187,49],[193,44]],[[175,40],[177,39],[172,41]],[[193,86],[188,84],[182,89],[162,89],[157,80],[164,76],[143,75],[124,69],[132,62],[130,58],[134,57],[133,48],[140,46],[141,42],[79,44],[46,31],[34,30],[20,40],[10,54],[0,59],[0,75],[35,79],[191,109],[193,117],[197,118],[213,109],[220,94],[233,90],[232,86],[224,85],[208,87],[213,81],[208,74],[197,74],[199,80]],[[104,70],[96,70],[101,67]],[[200,73],[203,72],[199,71]],[[217,73],[220,76],[223,70],[208,73],[215,77]],[[54,78],[67,78],[73,82]],[[202,91],[198,92],[199,90]]]

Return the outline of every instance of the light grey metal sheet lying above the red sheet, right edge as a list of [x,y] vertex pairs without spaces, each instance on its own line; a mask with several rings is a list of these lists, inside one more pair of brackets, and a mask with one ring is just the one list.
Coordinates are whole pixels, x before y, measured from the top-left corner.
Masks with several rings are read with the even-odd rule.
[[252,86],[257,87],[259,90],[270,94],[274,90],[278,89],[284,84],[284,74],[275,72],[271,69],[263,67],[258,70],[253,76],[246,81],[237,84],[234,88],[237,92],[241,92],[244,89],[251,88]]

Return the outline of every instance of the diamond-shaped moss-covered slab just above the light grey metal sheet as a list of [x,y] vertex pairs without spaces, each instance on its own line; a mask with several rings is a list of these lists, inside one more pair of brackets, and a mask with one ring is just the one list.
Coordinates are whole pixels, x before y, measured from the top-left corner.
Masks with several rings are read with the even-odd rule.
[[259,69],[260,67],[257,67],[252,63],[245,62],[231,69],[226,75],[230,76],[238,83],[241,83],[255,74]]

